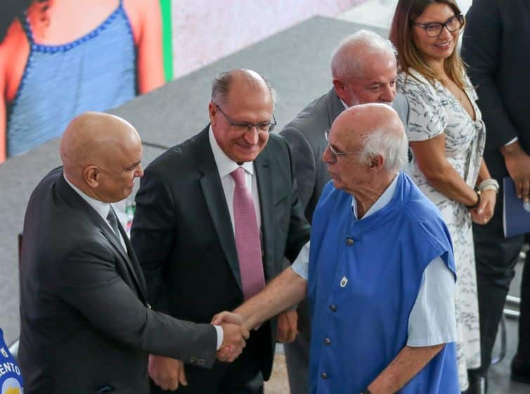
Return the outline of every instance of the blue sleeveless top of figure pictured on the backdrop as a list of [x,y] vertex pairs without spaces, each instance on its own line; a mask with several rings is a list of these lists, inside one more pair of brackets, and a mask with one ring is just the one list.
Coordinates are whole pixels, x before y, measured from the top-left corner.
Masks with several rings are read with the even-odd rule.
[[30,56],[8,108],[8,157],[60,136],[79,113],[134,98],[136,53],[122,0],[95,30],[69,44],[37,44],[27,17],[22,25]]

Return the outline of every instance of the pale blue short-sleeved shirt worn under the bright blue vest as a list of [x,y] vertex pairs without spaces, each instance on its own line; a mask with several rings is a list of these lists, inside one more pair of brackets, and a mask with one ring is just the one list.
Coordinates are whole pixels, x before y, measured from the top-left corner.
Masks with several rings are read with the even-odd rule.
[[[392,200],[397,179],[398,177],[394,178],[363,218],[373,215]],[[351,196],[351,209],[357,220],[357,203],[354,196]],[[309,249],[308,242],[291,266],[292,270],[305,280],[309,272]],[[434,258],[423,272],[420,291],[408,317],[408,346],[433,346],[456,341],[454,292],[453,272],[440,257]]]

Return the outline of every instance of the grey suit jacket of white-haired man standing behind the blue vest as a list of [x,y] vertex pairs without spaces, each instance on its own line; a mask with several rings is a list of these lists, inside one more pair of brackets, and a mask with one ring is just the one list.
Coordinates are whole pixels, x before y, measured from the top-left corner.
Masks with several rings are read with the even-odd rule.
[[[408,123],[408,101],[401,94],[394,100],[394,109],[403,125]],[[330,180],[322,153],[326,147],[325,130],[342,113],[344,106],[331,88],[328,93],[309,103],[280,132],[290,144],[295,162],[298,194],[307,220],[311,222],[322,189]]]

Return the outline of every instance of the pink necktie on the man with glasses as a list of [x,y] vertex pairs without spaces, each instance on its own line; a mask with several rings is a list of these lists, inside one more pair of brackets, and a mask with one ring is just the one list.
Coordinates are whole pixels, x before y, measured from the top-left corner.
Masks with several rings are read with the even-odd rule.
[[235,181],[233,193],[235,248],[238,250],[243,295],[247,300],[265,286],[259,230],[254,199],[250,189],[245,185],[245,169],[238,167],[230,174]]

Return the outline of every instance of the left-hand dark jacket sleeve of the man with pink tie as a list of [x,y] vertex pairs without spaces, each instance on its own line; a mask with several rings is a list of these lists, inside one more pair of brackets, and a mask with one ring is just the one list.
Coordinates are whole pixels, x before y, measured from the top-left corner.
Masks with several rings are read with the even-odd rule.
[[174,212],[174,201],[167,184],[148,167],[136,193],[131,245],[146,277],[148,300],[163,312],[167,312],[167,297],[164,296],[162,275],[177,231]]

